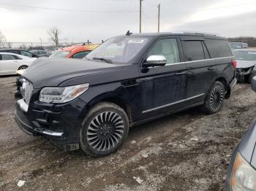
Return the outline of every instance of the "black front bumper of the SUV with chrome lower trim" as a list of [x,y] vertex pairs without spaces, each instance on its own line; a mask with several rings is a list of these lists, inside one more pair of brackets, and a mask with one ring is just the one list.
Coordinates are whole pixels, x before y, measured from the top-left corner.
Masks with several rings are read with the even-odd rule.
[[85,102],[80,98],[67,104],[31,102],[29,106],[23,100],[16,102],[15,121],[24,132],[43,136],[64,150],[79,149]]

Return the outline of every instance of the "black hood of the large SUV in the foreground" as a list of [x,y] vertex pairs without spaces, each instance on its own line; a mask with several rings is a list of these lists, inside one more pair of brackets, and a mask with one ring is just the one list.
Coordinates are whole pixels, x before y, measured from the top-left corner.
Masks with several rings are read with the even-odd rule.
[[[58,86],[62,82],[67,81],[68,79],[75,79],[78,77],[85,76],[94,76],[95,74],[103,75],[105,73],[113,73],[113,71],[121,70],[124,68],[124,65],[105,63],[102,61],[87,61],[83,59],[67,59],[67,58],[39,58],[37,61],[29,66],[23,72],[23,77],[29,79],[33,83],[34,88],[40,88],[44,86]],[[108,80],[114,80],[114,76],[103,79],[105,82]],[[93,84],[95,76],[88,82]],[[83,80],[86,80],[83,78]],[[78,80],[73,80],[72,82],[81,83]],[[72,85],[65,83],[65,85]]]

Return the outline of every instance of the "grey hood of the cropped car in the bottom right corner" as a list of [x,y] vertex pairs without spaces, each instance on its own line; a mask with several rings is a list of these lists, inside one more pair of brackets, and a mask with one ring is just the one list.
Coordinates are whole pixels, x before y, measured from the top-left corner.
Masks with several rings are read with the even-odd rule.
[[251,128],[246,132],[245,136],[241,140],[238,151],[251,165],[256,168],[256,119],[252,122]]

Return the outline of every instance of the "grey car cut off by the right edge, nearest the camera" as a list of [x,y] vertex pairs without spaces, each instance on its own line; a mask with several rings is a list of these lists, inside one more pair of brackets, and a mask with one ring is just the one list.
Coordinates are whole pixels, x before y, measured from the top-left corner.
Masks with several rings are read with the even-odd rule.
[[[252,79],[256,92],[256,77]],[[256,119],[235,149],[227,171],[226,190],[256,190]]]

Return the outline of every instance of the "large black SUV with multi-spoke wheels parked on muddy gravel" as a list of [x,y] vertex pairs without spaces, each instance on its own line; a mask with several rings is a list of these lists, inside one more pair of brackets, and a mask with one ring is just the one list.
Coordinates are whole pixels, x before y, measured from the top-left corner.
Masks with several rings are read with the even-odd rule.
[[236,84],[225,38],[127,34],[83,60],[39,59],[23,73],[15,119],[64,150],[115,152],[129,127],[194,106],[218,112]]

